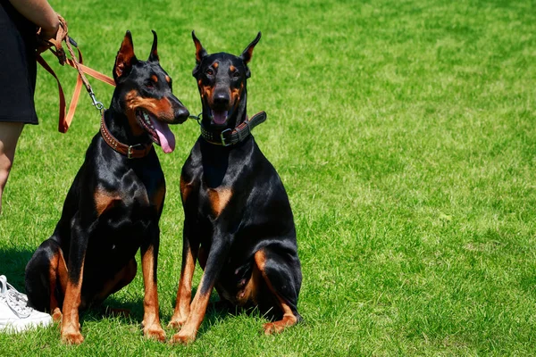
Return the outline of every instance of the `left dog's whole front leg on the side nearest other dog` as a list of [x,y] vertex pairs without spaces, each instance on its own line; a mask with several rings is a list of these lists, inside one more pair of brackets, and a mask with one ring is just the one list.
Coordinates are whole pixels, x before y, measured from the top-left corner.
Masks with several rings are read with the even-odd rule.
[[143,299],[143,334],[149,338],[164,342],[165,332],[160,324],[158,290],[156,287],[156,268],[158,263],[158,247],[160,245],[160,229],[152,229],[152,238],[141,246],[141,268],[145,296]]

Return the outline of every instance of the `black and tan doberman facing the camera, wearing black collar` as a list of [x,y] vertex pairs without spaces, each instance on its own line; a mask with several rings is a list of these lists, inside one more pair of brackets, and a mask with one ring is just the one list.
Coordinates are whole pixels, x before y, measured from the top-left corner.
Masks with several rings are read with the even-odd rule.
[[[261,33],[240,56],[207,54],[192,37],[203,113],[180,177],[182,266],[170,326],[182,328],[172,342],[195,340],[214,287],[225,304],[271,311],[264,333],[281,332],[301,320],[302,274],[289,197],[250,135],[265,113],[247,118],[247,63]],[[204,273],[190,304],[197,260]]]

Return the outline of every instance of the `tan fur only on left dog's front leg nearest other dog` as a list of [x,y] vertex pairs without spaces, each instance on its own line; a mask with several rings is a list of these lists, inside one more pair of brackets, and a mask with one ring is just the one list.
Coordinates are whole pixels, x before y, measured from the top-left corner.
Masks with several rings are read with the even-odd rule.
[[143,270],[143,283],[145,295],[143,299],[143,334],[158,341],[165,341],[165,332],[160,324],[158,291],[155,280],[155,256],[153,246],[142,253],[141,268]]

